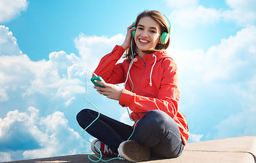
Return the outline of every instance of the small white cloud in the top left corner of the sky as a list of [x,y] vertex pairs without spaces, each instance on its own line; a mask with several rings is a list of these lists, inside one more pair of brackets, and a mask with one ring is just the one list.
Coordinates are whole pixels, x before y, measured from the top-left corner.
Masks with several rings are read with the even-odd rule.
[[0,1],[0,22],[7,22],[18,16],[20,12],[27,10],[29,2],[26,0],[1,0]]

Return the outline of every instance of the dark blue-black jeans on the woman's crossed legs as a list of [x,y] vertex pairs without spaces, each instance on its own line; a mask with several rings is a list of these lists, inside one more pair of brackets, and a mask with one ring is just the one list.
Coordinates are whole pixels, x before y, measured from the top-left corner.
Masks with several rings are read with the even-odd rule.
[[[76,119],[82,128],[86,128],[97,115],[97,111],[83,109]],[[100,114],[99,119],[86,129],[86,132],[108,145],[115,153],[118,153],[119,145],[127,141],[132,131],[132,126],[103,114]],[[144,147],[150,147],[150,155],[158,158],[176,158],[184,149],[178,125],[167,113],[159,110],[148,111],[142,117],[130,140],[137,141]]]

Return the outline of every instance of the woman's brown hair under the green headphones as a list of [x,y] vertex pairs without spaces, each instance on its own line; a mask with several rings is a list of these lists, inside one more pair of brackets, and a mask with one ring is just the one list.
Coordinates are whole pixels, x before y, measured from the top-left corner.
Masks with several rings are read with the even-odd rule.
[[[166,32],[166,33],[170,32],[169,31],[169,27],[168,27],[169,24],[167,24],[167,22],[165,20],[165,16],[163,16],[163,14],[161,14],[160,12],[157,12],[155,10],[153,10],[153,11],[144,11],[141,14],[139,14],[137,19],[136,19],[135,26],[138,25],[138,23],[140,22],[141,18],[144,18],[146,16],[148,16],[150,18],[153,18],[153,20],[155,20],[159,24],[160,30],[161,30],[161,34],[163,32]],[[161,44],[161,43],[157,43],[157,46],[155,47],[155,50],[148,50],[146,52],[148,54],[153,53],[153,52],[160,52],[161,50],[167,49],[169,44],[170,44],[170,37],[169,37],[167,43],[165,43],[164,45]],[[138,52],[138,48],[136,46],[136,43],[135,43],[134,39],[132,41],[132,50],[133,50],[133,55]],[[132,59],[131,48],[129,48],[127,51],[128,51],[128,53],[125,54],[125,58],[127,58],[127,60],[129,60],[129,62],[131,62],[131,59]]]

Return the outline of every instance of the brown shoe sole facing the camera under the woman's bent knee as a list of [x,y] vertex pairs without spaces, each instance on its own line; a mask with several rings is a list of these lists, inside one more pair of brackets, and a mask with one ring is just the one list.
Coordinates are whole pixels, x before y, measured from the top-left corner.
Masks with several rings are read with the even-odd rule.
[[143,147],[136,141],[123,141],[119,145],[119,153],[129,162],[140,162],[150,158],[150,149]]

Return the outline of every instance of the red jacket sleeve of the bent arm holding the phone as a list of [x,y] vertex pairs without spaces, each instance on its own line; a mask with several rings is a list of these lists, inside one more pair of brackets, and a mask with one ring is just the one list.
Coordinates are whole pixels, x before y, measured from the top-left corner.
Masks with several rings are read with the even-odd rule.
[[165,62],[164,67],[161,87],[157,98],[140,96],[129,90],[123,90],[119,104],[123,107],[129,107],[131,111],[138,115],[150,110],[159,109],[172,118],[176,117],[180,98],[178,70],[174,60],[172,62]]

